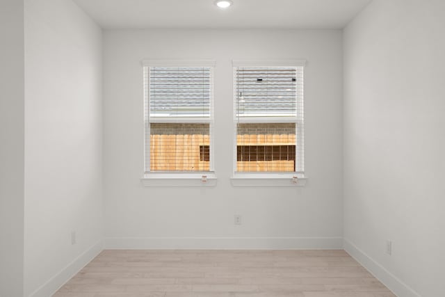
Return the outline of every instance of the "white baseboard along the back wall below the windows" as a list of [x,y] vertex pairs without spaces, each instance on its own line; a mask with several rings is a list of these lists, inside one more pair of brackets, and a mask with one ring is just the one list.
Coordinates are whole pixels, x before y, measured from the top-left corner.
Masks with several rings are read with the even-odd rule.
[[108,237],[104,249],[110,250],[302,250],[343,249],[341,237]]

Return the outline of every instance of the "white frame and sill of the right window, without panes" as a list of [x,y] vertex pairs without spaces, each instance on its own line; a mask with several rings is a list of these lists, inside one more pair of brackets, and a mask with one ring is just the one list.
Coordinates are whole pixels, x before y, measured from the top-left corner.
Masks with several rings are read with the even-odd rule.
[[[231,182],[233,186],[305,186],[307,183],[307,177],[305,176],[305,137],[304,137],[304,115],[303,113],[297,114],[296,118],[237,118],[236,117],[236,67],[305,67],[307,61],[305,59],[300,60],[280,60],[280,61],[232,61],[232,76],[233,76],[233,131],[234,131],[234,144],[233,144],[233,170]],[[304,73],[304,70],[303,70]],[[303,97],[304,97],[303,93]],[[304,98],[303,98],[304,104]],[[304,109],[304,106],[303,106]],[[301,147],[301,154],[296,156],[296,162],[298,162],[299,169],[296,172],[237,172],[236,171],[236,154],[237,154],[237,124],[243,123],[277,123],[277,122],[293,122],[296,123],[296,135],[297,147]]]

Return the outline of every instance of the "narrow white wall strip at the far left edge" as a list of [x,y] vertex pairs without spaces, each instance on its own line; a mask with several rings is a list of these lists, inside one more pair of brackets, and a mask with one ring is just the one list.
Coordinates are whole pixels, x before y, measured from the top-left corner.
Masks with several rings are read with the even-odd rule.
[[23,1],[0,1],[0,296],[23,295]]

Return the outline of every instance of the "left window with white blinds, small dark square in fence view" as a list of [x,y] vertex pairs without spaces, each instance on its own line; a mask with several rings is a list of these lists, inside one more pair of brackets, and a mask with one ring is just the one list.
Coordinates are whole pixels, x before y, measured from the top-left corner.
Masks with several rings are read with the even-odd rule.
[[145,175],[212,172],[214,63],[143,64]]

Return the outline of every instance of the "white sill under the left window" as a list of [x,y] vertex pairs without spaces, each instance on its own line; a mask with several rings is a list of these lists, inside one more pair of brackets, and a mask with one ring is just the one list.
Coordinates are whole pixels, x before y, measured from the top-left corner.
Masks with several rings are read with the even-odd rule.
[[[206,176],[206,178],[203,178]],[[145,173],[140,179],[144,186],[216,186],[214,172]]]

